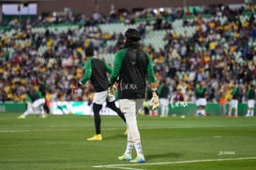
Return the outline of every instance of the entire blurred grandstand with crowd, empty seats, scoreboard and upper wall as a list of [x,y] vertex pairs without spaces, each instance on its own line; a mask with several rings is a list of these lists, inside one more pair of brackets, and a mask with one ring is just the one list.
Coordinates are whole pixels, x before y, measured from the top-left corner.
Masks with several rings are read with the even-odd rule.
[[[113,64],[127,28],[137,28],[153,59],[158,81],[171,97],[194,103],[199,83],[209,103],[239,89],[246,102],[256,84],[256,5],[253,0],[1,0],[0,102],[24,103],[26,93],[46,86],[51,101],[91,100],[83,77],[84,50]],[[171,100],[171,98],[170,98]],[[4,109],[4,108],[3,108]]]

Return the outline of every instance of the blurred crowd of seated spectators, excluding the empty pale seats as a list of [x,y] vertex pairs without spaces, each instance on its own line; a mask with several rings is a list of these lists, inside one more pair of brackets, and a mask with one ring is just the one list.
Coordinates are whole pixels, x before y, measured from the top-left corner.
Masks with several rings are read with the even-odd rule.
[[[122,48],[122,34],[103,34],[90,27],[123,21],[132,24],[138,19],[143,37],[149,31],[165,30],[165,44],[159,51],[151,45],[142,48],[153,58],[158,80],[167,79],[171,93],[183,93],[184,100],[194,102],[194,90],[199,82],[207,89],[206,99],[218,102],[219,92],[227,92],[231,98],[230,85],[237,84],[245,101],[248,84],[256,84],[256,22],[255,5],[239,8],[215,7],[202,10],[177,8],[172,12],[111,13],[90,17],[68,16],[65,21],[80,23],[79,29],[62,33],[57,30],[33,32],[41,24],[58,24],[53,16],[30,21],[10,21],[14,32],[1,30],[0,35],[0,101],[25,101],[25,93],[37,89],[37,78],[45,81],[48,97],[53,100],[90,100],[92,86],[87,83],[75,98],[71,88],[83,77],[84,50],[94,47],[98,53],[114,53]],[[146,19],[154,19],[153,22]],[[219,20],[219,19],[227,20]],[[168,19],[168,20],[166,20]],[[182,20],[182,27],[195,27],[192,35],[171,32],[173,21]],[[3,22],[2,24],[7,24]],[[148,30],[153,26],[153,30]],[[76,39],[76,41],[74,41]],[[93,41],[92,41],[93,39]],[[107,41],[116,39],[115,46]],[[41,46],[47,50],[40,53]]]

